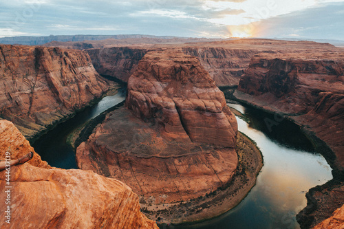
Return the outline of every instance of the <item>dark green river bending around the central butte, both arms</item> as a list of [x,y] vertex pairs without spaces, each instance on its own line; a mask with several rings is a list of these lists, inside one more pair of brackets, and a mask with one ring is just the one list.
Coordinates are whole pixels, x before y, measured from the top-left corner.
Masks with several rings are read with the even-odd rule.
[[[66,142],[67,136],[88,120],[125,100],[125,92],[107,96],[87,107],[74,118],[58,124],[36,140],[32,146],[42,160],[58,168],[77,168],[75,153]],[[281,122],[273,131],[266,128],[267,113],[244,105],[228,106],[243,113],[237,117],[239,131],[254,140],[261,150],[264,166],[257,184],[241,203],[224,215],[200,223],[167,226],[175,229],[268,229],[299,228],[297,213],[307,200],[305,193],[332,179],[332,169],[322,155],[315,153],[307,138],[291,122]]]

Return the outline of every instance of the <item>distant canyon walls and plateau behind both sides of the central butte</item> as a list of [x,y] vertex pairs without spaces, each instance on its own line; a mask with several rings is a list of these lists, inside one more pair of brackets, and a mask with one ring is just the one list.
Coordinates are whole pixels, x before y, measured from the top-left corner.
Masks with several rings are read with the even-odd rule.
[[198,58],[218,86],[238,85],[240,76],[244,74],[255,54],[281,54],[292,50],[297,56],[314,52],[314,50],[326,53],[337,49],[327,43],[310,41],[239,39],[190,43],[192,41],[193,39],[188,39],[188,41],[180,40],[173,44],[167,44],[162,41],[151,42],[146,39],[135,39],[135,41],[113,39],[87,41],[85,43],[55,43],[54,45],[80,49],[98,47],[94,50],[86,50],[91,56],[96,70],[100,74],[113,76],[125,82],[135,72],[138,61],[148,50],[154,50],[158,47],[170,50],[182,49],[184,54]]

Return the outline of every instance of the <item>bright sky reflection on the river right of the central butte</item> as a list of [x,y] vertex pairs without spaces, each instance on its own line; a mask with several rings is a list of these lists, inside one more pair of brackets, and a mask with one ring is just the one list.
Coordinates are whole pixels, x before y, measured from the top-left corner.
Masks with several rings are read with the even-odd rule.
[[[234,107],[249,115],[252,121],[252,116],[255,115],[252,109],[248,112],[241,105]],[[254,118],[257,123],[261,117]],[[330,166],[323,156],[316,154],[314,150],[297,150],[297,147],[292,145],[293,140],[288,144],[279,144],[276,139],[255,129],[257,125],[262,124],[248,124],[239,118],[237,122],[239,131],[255,140],[264,156],[264,166],[257,177],[256,186],[239,206],[221,217],[203,223],[170,228],[299,228],[295,216],[306,205],[305,193],[310,188],[332,179]],[[288,131],[279,130],[286,135],[284,138],[288,138]]]

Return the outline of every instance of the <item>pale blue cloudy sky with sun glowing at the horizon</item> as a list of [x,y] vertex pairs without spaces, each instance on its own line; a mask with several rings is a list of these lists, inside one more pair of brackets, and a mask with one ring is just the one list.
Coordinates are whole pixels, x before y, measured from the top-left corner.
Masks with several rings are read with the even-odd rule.
[[10,0],[0,37],[149,34],[344,40],[344,0]]

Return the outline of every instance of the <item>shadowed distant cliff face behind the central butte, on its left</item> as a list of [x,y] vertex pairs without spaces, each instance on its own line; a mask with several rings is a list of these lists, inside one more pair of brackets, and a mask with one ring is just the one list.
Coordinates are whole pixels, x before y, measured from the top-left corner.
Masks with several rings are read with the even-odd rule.
[[111,47],[85,50],[92,59],[94,68],[99,74],[112,76],[127,82],[136,71],[138,62],[147,50],[131,47]]

